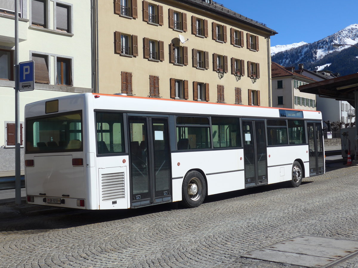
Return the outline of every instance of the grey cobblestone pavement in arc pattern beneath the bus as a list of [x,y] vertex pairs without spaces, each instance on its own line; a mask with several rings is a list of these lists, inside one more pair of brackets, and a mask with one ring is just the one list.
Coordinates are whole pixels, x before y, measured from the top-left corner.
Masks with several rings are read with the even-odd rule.
[[[0,219],[0,267],[289,267],[241,254],[297,235],[358,240],[358,167],[120,211],[69,210]],[[336,267],[358,267],[358,257]]]

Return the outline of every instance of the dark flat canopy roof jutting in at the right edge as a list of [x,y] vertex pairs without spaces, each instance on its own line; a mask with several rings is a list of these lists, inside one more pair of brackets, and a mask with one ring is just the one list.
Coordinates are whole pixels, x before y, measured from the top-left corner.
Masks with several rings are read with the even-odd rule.
[[323,98],[348,101],[355,109],[355,139],[358,139],[358,73],[301,85],[299,90],[300,92],[316,94]]

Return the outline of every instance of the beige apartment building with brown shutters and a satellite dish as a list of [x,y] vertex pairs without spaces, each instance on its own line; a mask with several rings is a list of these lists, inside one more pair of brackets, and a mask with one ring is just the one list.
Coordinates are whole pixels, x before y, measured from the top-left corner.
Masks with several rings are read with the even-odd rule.
[[95,92],[271,106],[265,24],[211,0],[96,6]]

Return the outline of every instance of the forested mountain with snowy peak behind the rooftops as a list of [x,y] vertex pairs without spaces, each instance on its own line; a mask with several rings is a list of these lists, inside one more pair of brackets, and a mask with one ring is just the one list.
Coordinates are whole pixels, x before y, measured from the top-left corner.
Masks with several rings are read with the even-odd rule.
[[[275,52],[277,50],[276,48],[277,46],[272,47],[271,51],[275,52],[275,54],[272,54],[272,61],[281,64],[283,66],[298,66],[299,63],[304,63],[305,69],[309,69],[309,68],[315,69],[316,67],[322,68],[322,66],[328,65],[329,70],[340,72],[339,69],[337,69],[338,64],[335,64],[335,62],[340,62],[342,63],[342,65],[344,65],[344,60],[340,59],[339,56],[343,54],[341,54],[340,52],[346,50],[352,51],[352,53],[349,53],[349,57],[353,56],[354,59],[346,58],[345,60],[349,60],[352,62],[352,64],[354,64],[355,60],[357,60],[355,56],[358,56],[358,49],[352,46],[340,46],[339,48],[333,48],[333,44],[355,45],[357,43],[358,43],[358,24],[352,24],[338,31],[335,34],[329,35],[326,38],[323,38],[314,43],[303,44],[280,52]],[[286,47],[289,46],[291,45],[287,45]],[[282,46],[282,48],[283,47],[284,46]],[[332,53],[335,56],[334,58],[332,58],[333,55],[329,56]],[[357,66],[356,63],[355,66]],[[358,67],[355,68],[355,66],[354,65],[351,66],[353,68],[351,73],[357,72],[354,71],[355,69],[358,68]],[[333,68],[336,69],[333,70]],[[345,66],[345,69],[346,70],[343,73],[340,73],[341,75],[344,75],[346,72],[349,72],[347,66]]]

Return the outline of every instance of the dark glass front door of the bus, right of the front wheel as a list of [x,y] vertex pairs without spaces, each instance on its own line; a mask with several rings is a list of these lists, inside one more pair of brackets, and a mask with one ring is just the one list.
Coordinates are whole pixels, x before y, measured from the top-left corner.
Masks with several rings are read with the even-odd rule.
[[324,173],[324,151],[321,123],[307,122],[310,175]]

